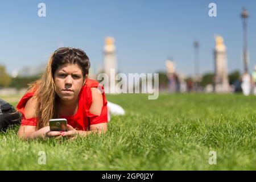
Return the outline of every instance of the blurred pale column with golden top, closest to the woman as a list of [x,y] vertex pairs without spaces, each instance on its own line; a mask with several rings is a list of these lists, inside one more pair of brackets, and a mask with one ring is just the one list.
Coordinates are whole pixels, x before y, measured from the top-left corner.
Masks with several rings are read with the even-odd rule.
[[[117,74],[117,57],[115,55],[115,39],[113,37],[105,38],[105,46],[104,46],[104,73],[108,74],[109,81],[112,80],[110,76],[115,78]],[[114,72],[115,75],[110,75],[110,73]],[[113,73],[112,73],[113,74]],[[112,93],[115,92],[115,84],[105,85],[105,89],[112,90]]]

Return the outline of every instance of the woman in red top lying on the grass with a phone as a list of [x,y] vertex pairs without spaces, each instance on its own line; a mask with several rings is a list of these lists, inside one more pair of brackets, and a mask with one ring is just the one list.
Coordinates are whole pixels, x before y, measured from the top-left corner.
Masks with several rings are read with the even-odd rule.
[[[88,78],[90,61],[77,48],[59,48],[46,72],[17,105],[22,113],[20,139],[86,136],[106,133],[108,107],[103,87]],[[98,89],[100,88],[100,89]],[[50,131],[49,119],[65,118],[68,131]]]

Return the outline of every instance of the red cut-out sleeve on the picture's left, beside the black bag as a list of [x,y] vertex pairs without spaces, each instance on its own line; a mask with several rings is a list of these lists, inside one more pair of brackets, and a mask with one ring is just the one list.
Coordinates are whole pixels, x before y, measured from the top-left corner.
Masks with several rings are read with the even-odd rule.
[[26,106],[27,104],[27,101],[32,97],[34,96],[34,93],[30,92],[30,93],[26,93],[22,98],[21,100],[19,101],[18,105],[17,105],[17,110],[22,113],[22,121],[20,123],[21,126],[26,126],[26,125],[29,125],[29,126],[36,126],[36,118],[25,118],[25,115],[24,115],[24,107]]

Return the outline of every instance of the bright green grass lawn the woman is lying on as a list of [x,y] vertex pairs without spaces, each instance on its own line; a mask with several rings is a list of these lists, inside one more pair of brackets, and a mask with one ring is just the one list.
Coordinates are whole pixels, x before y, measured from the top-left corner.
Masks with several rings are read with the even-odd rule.
[[[14,98],[14,97],[11,97]],[[126,115],[106,135],[22,141],[0,134],[0,170],[255,170],[256,97],[240,94],[107,96]],[[5,98],[8,100],[8,98]],[[16,102],[12,102],[16,105]],[[46,164],[39,165],[39,151]],[[210,165],[209,151],[217,152]]]

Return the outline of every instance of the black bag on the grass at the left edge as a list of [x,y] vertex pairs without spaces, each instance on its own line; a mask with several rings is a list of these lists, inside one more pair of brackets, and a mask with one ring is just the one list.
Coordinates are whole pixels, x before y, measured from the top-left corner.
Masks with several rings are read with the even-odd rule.
[[13,129],[20,124],[20,114],[8,102],[0,99],[0,131]]

